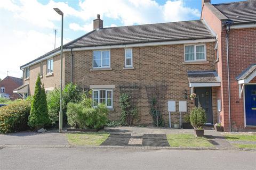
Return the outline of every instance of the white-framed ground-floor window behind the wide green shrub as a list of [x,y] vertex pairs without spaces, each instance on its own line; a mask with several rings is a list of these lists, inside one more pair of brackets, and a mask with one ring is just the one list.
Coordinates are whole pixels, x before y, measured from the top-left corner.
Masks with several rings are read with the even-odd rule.
[[107,108],[113,108],[113,90],[112,89],[95,89],[92,90],[92,106],[97,107],[103,103]]

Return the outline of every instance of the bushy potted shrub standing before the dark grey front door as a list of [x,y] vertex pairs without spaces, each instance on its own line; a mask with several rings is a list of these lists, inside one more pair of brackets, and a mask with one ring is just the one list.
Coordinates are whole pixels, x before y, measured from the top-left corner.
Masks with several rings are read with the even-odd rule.
[[203,137],[204,129],[202,128],[202,126],[206,123],[206,115],[205,110],[201,106],[191,109],[190,122],[191,125],[194,127],[196,136]]

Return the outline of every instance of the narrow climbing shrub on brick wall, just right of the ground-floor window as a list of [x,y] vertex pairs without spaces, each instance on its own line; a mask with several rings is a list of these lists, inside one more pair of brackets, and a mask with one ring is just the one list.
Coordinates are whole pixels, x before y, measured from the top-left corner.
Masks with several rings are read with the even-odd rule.
[[119,97],[119,106],[121,108],[122,124],[131,126],[133,118],[138,115],[137,107],[131,103],[131,96],[129,94],[121,94]]

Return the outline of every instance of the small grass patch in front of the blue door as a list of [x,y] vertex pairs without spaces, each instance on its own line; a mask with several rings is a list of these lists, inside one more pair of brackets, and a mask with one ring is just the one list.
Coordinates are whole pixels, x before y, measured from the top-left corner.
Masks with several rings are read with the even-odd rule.
[[[238,148],[256,149],[256,135],[255,134],[225,134],[225,138],[230,143]],[[244,141],[244,143],[243,143]],[[237,143],[236,143],[237,142]],[[254,143],[248,143],[254,142]]]

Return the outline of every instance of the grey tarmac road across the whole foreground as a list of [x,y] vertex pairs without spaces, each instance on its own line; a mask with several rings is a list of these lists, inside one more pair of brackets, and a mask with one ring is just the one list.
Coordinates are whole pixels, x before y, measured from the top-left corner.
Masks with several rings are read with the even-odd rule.
[[0,169],[255,169],[256,154],[238,150],[4,148]]

